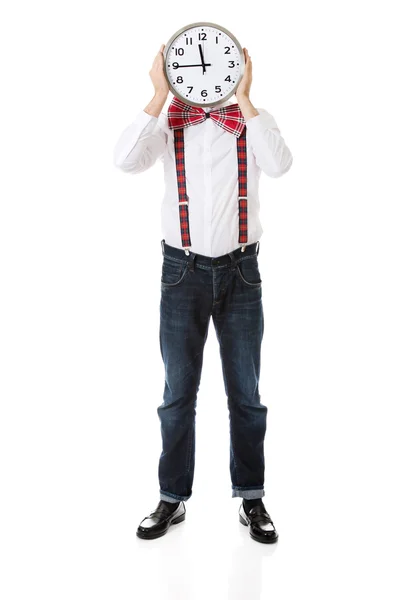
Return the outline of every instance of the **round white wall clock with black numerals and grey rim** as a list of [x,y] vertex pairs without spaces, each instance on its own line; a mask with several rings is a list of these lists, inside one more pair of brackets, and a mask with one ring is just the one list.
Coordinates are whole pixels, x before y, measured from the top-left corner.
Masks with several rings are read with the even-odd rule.
[[243,77],[238,40],[215,23],[182,27],[164,48],[164,73],[171,92],[191,106],[213,106],[230,98]]

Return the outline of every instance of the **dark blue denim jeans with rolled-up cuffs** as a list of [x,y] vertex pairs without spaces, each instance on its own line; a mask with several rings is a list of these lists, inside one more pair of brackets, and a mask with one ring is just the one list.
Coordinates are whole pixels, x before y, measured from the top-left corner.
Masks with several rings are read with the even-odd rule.
[[161,245],[160,499],[177,502],[192,495],[197,392],[210,317],[229,410],[232,497],[262,498],[267,407],[258,390],[264,333],[259,242],[216,258],[186,255],[165,240]]

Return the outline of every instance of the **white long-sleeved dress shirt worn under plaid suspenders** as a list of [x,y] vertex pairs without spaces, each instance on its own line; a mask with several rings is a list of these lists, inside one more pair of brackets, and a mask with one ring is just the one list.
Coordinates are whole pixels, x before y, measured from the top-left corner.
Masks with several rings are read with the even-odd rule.
[[[170,246],[182,249],[174,133],[165,112],[153,117],[141,110],[121,134],[114,165],[138,174],[159,158],[164,164],[165,193],[161,203],[161,230]],[[215,107],[235,104],[231,100]],[[292,154],[275,119],[265,109],[246,121],[247,127],[247,243],[260,240],[258,181],[261,171],[279,177],[289,170]],[[217,257],[239,248],[238,162],[236,136],[206,119],[184,128],[186,191],[189,196],[189,232],[192,252]]]

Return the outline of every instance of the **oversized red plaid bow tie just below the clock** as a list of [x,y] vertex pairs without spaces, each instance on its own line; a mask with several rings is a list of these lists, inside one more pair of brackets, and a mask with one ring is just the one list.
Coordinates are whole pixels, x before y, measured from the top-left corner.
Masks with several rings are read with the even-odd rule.
[[[210,115],[209,118],[217,125],[226,129],[229,133],[233,133],[236,137],[241,136],[246,126],[238,104],[216,108],[208,114]],[[185,104],[175,96],[168,107],[168,126],[170,129],[180,129],[189,125],[197,125],[197,123],[202,123],[207,118],[206,112],[201,107]]]

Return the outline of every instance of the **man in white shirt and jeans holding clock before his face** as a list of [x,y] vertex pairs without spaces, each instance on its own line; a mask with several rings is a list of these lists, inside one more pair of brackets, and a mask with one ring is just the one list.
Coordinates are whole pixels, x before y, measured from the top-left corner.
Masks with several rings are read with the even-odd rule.
[[[196,399],[212,317],[228,398],[232,497],[242,498],[239,519],[252,539],[275,542],[278,533],[262,501],[267,407],[258,390],[264,331],[258,179],[261,171],[270,177],[286,173],[292,155],[274,118],[250,101],[252,63],[246,48],[236,103],[193,109],[174,97],[167,114],[162,113],[169,93],[163,49],[164,44],[150,70],[154,96],[123,131],[114,154],[114,164],[132,174],[160,158],[166,184],[160,302],[165,388],[157,409],[163,443],[160,500],[137,535],[154,539],[185,519],[194,476]],[[236,120],[233,134],[222,124],[226,113]],[[239,138],[246,143],[244,151]]]

